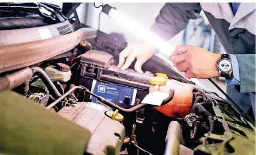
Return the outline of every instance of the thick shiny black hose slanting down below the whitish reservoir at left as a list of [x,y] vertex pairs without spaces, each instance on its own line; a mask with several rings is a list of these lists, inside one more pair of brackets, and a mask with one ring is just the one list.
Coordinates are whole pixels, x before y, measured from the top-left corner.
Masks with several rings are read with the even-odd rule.
[[60,98],[62,96],[43,69],[38,66],[32,66],[30,68],[32,69],[32,72],[43,81],[53,98]]

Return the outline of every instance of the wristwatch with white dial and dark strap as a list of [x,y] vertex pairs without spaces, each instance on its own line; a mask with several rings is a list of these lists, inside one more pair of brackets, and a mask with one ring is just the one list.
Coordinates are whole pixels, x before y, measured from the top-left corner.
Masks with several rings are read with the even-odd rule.
[[221,77],[230,77],[233,72],[231,58],[228,54],[221,54],[221,59],[218,60],[216,66]]

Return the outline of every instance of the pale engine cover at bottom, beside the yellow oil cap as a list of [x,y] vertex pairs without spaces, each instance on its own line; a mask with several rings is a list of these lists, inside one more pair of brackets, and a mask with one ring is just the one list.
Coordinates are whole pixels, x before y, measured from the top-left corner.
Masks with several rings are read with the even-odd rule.
[[124,141],[124,126],[107,117],[106,111],[108,109],[102,105],[83,102],[75,107],[64,107],[58,114],[91,132],[86,153],[119,154]]

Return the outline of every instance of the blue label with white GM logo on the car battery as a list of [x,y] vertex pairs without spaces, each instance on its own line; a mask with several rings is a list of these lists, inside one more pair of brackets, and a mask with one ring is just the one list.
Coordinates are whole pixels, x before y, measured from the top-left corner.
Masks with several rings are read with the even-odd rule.
[[[134,105],[137,89],[97,82],[94,87],[94,93],[108,99],[114,104],[116,102],[117,95],[119,95],[119,103],[121,104],[124,103],[125,96],[129,96],[129,105]],[[99,101],[92,97],[92,102],[98,103]]]

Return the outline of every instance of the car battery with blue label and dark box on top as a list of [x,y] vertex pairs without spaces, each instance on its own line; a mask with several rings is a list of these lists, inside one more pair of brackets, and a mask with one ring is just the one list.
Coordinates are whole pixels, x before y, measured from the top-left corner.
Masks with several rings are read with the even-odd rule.
[[[90,50],[80,59],[79,84],[116,104],[134,105],[149,93],[150,72],[139,74],[134,69],[122,70],[114,65],[113,56],[105,51]],[[83,101],[94,101],[86,98]]]

